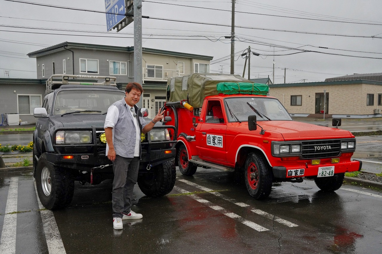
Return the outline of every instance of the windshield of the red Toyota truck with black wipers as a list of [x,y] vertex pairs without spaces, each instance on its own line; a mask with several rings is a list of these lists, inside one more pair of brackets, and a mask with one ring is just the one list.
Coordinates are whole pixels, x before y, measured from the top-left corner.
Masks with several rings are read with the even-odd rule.
[[268,118],[270,120],[292,121],[284,106],[274,98],[226,98],[224,104],[230,122],[237,122],[236,117],[239,121],[248,121],[248,116],[251,115],[256,115],[257,121],[268,121]]

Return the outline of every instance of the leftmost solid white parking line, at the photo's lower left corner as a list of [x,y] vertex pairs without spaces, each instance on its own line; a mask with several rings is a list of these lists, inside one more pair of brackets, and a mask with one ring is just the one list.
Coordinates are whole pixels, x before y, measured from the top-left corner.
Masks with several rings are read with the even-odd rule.
[[19,178],[12,177],[8,189],[8,198],[6,200],[3,231],[0,239],[0,253],[14,254],[16,253],[16,224],[17,214],[9,214],[17,212],[17,190]]

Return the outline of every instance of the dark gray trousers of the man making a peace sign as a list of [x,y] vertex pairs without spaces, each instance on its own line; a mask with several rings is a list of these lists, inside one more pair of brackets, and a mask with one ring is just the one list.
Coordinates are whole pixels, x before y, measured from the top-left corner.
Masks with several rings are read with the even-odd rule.
[[113,162],[113,217],[123,217],[128,214],[131,207],[134,185],[137,182],[139,170],[139,157],[125,158],[115,156]]

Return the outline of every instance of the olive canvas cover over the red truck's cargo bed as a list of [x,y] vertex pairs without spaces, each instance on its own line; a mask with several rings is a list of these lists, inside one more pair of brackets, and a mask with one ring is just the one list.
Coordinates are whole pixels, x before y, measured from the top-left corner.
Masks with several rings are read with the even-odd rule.
[[240,75],[221,73],[194,73],[183,77],[169,78],[167,80],[168,101],[188,100],[194,108],[201,108],[206,96],[217,95],[217,84],[221,82],[246,82]]

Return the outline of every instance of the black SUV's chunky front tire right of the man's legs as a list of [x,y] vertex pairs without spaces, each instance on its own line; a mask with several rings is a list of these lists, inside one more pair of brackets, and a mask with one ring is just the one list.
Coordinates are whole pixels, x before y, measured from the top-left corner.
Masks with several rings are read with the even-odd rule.
[[176,169],[174,161],[166,161],[152,167],[147,173],[138,175],[138,186],[150,197],[164,196],[174,188]]

